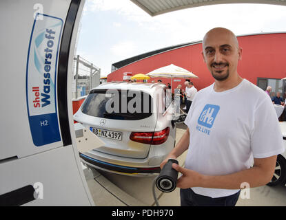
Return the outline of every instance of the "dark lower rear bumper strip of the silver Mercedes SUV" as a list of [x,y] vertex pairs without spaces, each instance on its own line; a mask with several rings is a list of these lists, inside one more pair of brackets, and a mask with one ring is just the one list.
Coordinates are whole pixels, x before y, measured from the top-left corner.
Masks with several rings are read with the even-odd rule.
[[103,162],[99,159],[94,159],[82,153],[79,153],[79,157],[81,157],[83,163],[94,166],[95,168],[100,168],[102,170],[108,170],[113,173],[121,173],[125,175],[137,175],[137,174],[160,173],[161,171],[160,167],[142,168],[142,167],[131,167],[131,166],[121,166],[118,164],[111,164],[108,162]]

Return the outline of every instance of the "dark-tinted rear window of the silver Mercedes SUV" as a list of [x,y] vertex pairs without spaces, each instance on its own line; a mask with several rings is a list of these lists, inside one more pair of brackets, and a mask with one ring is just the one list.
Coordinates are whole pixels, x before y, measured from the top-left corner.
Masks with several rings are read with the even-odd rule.
[[143,91],[92,90],[81,111],[99,118],[141,120],[152,115],[152,97]]

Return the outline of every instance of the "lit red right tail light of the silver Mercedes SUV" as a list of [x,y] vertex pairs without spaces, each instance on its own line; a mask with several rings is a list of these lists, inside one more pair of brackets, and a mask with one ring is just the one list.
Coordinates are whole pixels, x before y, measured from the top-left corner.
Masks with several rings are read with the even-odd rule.
[[167,140],[169,133],[169,127],[162,131],[155,132],[132,132],[130,134],[130,140],[143,144],[159,145],[163,144]]

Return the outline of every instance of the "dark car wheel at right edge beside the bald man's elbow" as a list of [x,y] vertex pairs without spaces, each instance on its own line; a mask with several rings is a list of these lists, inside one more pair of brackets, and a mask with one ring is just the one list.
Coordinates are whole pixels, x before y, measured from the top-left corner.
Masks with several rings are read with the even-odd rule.
[[276,166],[272,180],[267,186],[277,186],[285,181],[286,178],[286,162],[282,155],[277,156]]

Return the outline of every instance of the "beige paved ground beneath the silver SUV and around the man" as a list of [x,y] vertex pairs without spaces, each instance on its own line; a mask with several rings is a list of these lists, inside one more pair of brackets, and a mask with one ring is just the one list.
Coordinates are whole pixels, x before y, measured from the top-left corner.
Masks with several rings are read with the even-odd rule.
[[[176,142],[185,132],[185,125],[177,124]],[[178,158],[183,165],[185,155]],[[85,177],[97,206],[154,206],[152,182],[155,176],[133,177],[85,169]],[[180,206],[178,188],[170,193],[156,189],[161,206]],[[247,197],[242,199],[242,197]],[[286,206],[286,187],[261,186],[243,192],[236,206]]]

